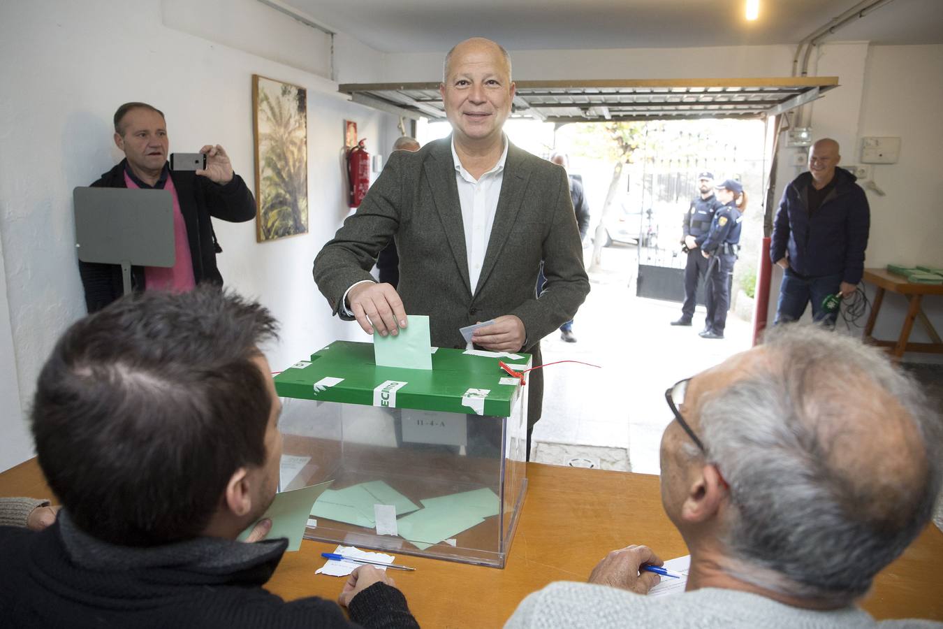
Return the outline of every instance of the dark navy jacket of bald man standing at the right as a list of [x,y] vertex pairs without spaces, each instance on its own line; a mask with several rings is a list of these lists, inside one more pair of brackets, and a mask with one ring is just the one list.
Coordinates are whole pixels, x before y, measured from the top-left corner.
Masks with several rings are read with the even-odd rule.
[[802,173],[786,186],[773,222],[769,258],[787,256],[789,267],[805,277],[841,274],[857,284],[865,268],[870,208],[855,176],[835,169],[835,188],[809,216],[807,189],[812,174]]

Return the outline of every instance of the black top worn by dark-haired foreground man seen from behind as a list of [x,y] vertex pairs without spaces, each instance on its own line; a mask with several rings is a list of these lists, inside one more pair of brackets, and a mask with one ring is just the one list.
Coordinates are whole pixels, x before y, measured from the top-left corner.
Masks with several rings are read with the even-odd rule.
[[[338,604],[285,603],[262,588],[284,538],[252,544],[195,538],[153,548],[108,544],[68,514],[37,533],[0,526],[0,625],[31,627],[352,628]],[[313,572],[306,578],[314,578]],[[338,588],[343,581],[338,580]],[[403,594],[374,584],[356,595],[351,619],[365,627],[418,627]]]

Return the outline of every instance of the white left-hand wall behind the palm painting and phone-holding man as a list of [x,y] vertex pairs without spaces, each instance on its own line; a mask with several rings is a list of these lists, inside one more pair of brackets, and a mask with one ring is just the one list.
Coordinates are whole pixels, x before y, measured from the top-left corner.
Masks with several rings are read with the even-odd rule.
[[[212,1],[221,11],[231,8],[224,0]],[[284,20],[267,10],[276,23]],[[358,51],[359,57],[345,60],[343,72],[369,80],[382,56],[362,44]],[[227,286],[257,297],[282,322],[282,341],[269,351],[273,369],[357,334],[330,316],[311,279],[311,262],[348,211],[341,177],[343,120],[356,121],[375,152],[393,140],[395,119],[347,102],[323,76],[167,27],[159,0],[3,3],[0,58],[6,284],[0,364],[15,364],[14,377],[0,380],[0,470],[32,455],[25,410],[37,374],[58,335],[85,314],[72,190],[122,157],[111,141],[111,116],[126,101],[163,109],[172,151],[222,144],[253,188],[252,74],[308,89],[310,232],[258,244],[254,223],[214,222],[224,249],[219,265]],[[369,63],[361,73],[356,64],[364,58]],[[4,338],[10,332],[12,352]],[[19,400],[6,394],[9,387],[18,387]]]

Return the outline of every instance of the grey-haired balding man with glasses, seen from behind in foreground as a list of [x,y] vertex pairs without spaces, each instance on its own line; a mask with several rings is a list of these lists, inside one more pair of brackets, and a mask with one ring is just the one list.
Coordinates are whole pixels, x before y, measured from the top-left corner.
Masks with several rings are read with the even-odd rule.
[[639,569],[662,561],[629,546],[506,626],[943,626],[855,604],[930,519],[940,416],[876,348],[792,327],[666,392],[662,504],[690,550],[687,591],[644,596],[658,576]]

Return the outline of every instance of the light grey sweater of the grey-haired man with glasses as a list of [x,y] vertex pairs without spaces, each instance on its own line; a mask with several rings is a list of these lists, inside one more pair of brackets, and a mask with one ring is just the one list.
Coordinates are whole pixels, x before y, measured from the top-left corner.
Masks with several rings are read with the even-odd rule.
[[943,627],[934,621],[875,621],[858,607],[813,611],[758,594],[703,588],[647,597],[622,589],[560,581],[521,602],[505,629],[604,629],[605,627],[763,627],[764,629],[882,629]]

